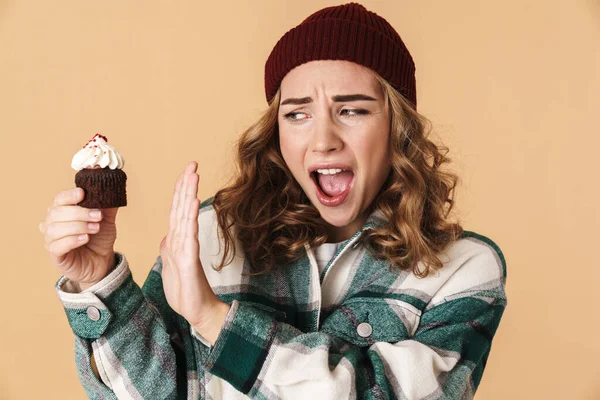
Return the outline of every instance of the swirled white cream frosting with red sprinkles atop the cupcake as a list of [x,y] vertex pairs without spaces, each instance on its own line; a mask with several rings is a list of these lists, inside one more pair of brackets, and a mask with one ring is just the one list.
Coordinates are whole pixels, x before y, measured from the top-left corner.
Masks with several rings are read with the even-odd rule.
[[96,166],[100,168],[122,169],[124,165],[123,157],[121,157],[121,154],[114,147],[106,143],[107,140],[106,136],[96,133],[83,146],[83,149],[79,150],[73,156],[71,168],[75,171],[80,171],[84,168],[94,168]]

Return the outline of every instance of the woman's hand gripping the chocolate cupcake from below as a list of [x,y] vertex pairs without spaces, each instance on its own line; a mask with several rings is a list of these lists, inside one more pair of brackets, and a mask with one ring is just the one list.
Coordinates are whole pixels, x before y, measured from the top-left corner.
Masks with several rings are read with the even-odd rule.
[[118,208],[91,210],[77,205],[83,189],[60,192],[39,224],[45,248],[58,270],[82,289],[100,281],[114,266]]

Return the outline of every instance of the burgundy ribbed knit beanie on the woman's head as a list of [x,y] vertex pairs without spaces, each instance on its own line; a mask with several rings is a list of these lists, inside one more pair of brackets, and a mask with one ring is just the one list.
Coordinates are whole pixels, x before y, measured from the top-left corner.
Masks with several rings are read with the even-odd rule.
[[317,11],[279,39],[265,64],[271,104],[293,68],[313,60],[347,60],[372,69],[417,108],[415,64],[398,32],[358,3]]

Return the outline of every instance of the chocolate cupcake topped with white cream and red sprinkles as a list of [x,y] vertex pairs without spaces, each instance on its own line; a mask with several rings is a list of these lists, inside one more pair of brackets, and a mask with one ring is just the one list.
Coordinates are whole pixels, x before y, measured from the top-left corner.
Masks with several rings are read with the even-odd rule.
[[106,136],[96,134],[73,156],[71,167],[75,185],[84,191],[83,201],[77,205],[85,208],[112,208],[127,205],[123,172],[123,157],[107,143]]

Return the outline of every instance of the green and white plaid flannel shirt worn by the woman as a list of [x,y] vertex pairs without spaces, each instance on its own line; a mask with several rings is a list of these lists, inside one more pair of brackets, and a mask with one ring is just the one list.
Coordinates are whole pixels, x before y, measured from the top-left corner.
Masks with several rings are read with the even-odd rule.
[[[92,399],[469,399],[506,306],[506,264],[490,239],[466,231],[426,278],[390,269],[362,245],[373,214],[319,273],[312,249],[248,276],[241,251],[220,272],[210,201],[200,259],[231,305],[214,346],[166,301],[156,259],[140,288],[127,259],[76,293],[56,291],[75,334],[78,376]],[[92,370],[94,358],[100,378]]]

